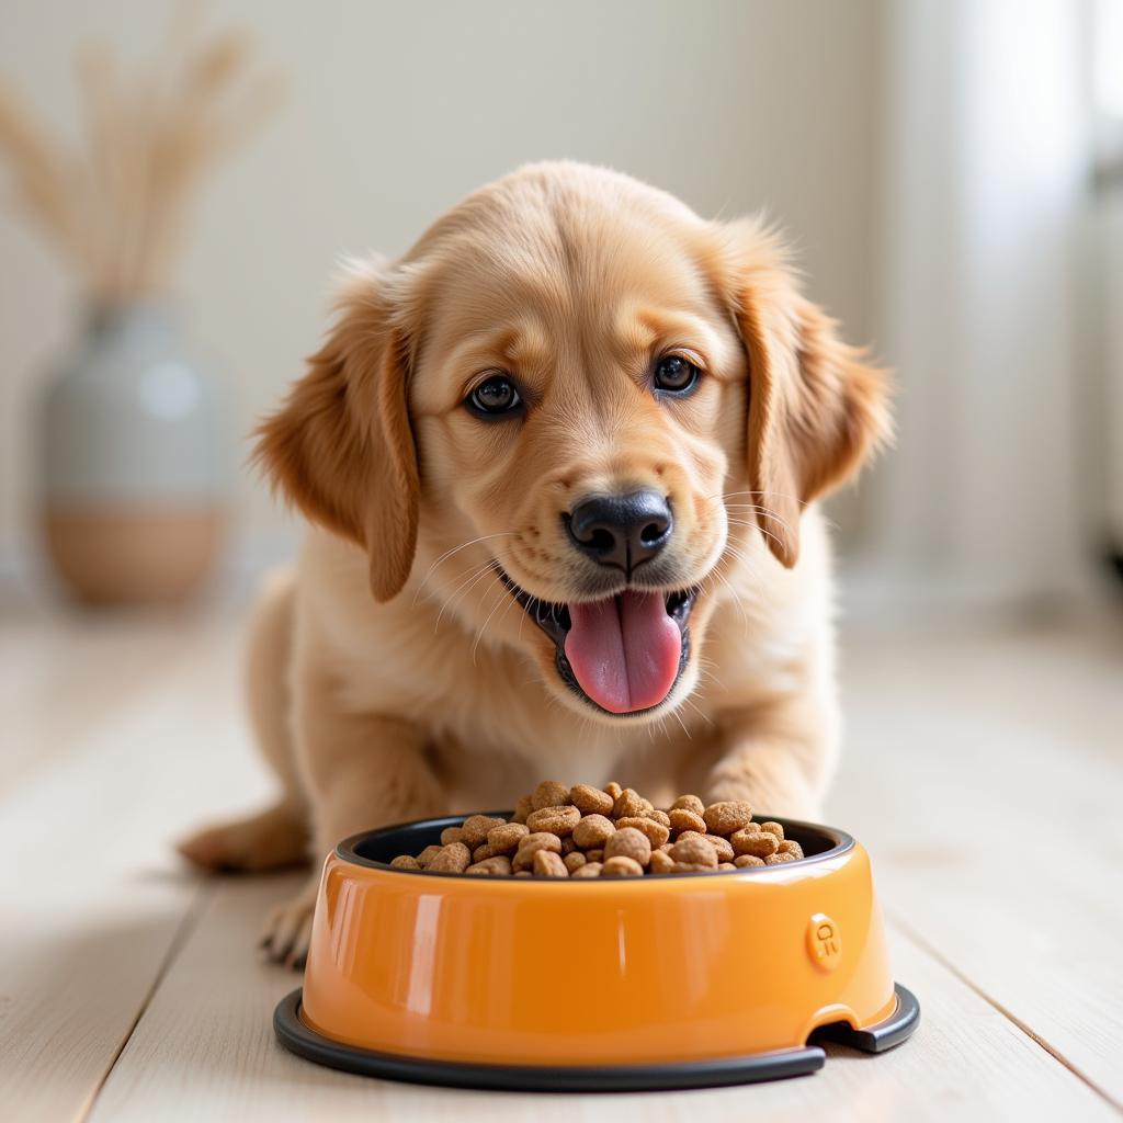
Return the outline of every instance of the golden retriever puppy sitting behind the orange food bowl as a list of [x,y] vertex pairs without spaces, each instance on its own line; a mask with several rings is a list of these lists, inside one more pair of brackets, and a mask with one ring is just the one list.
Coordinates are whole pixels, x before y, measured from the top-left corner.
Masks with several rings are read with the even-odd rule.
[[570,163],[476,192],[351,270],[261,428],[312,524],[249,641],[283,794],[183,852],[265,869],[546,777],[814,818],[839,725],[814,501],[887,426],[759,225]]

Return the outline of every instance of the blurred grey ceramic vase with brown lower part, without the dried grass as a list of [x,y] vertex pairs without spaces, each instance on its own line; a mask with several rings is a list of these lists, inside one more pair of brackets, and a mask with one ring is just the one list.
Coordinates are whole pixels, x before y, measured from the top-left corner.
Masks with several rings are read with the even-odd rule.
[[171,309],[95,310],[47,383],[42,511],[55,567],[82,600],[182,600],[211,570],[223,521],[217,386]]

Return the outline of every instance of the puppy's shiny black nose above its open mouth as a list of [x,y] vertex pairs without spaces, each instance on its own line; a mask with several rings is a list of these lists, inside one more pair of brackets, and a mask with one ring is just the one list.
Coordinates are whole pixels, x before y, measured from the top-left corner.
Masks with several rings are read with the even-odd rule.
[[569,512],[566,529],[574,546],[601,565],[631,575],[670,540],[670,505],[658,492],[593,495]]

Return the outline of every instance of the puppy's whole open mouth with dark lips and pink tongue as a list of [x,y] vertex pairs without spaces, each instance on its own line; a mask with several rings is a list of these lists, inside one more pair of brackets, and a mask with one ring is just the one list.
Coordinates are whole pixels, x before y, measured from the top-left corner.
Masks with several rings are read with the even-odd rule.
[[666,701],[690,660],[697,586],[673,593],[626,588],[600,601],[558,604],[520,588],[511,595],[551,640],[562,681],[605,713],[638,714]]

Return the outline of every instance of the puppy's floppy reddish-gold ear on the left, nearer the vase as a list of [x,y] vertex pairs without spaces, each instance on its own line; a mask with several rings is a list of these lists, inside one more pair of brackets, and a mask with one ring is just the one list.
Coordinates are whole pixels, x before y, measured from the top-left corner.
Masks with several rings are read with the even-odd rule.
[[417,545],[407,367],[387,274],[376,263],[353,270],[335,329],[258,428],[254,454],[304,515],[366,549],[378,601],[401,591]]

